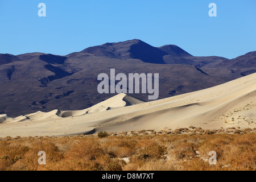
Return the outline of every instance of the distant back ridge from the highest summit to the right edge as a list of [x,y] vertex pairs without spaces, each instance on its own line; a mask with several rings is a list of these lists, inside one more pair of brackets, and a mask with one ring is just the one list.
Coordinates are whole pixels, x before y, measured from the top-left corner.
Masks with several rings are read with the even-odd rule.
[[172,44],[162,47],[153,47],[139,39],[117,43],[105,43],[101,46],[86,48],[80,53],[89,53],[94,56],[114,59],[139,59],[145,63],[154,64],[185,64],[197,65],[197,67],[209,65],[209,67],[225,68],[256,67],[256,51],[246,53],[232,60],[217,56],[194,57],[184,51],[184,49]]

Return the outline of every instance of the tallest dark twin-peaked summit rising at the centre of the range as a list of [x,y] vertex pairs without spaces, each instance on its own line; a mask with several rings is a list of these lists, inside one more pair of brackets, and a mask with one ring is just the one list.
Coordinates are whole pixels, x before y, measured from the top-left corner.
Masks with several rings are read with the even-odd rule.
[[[189,64],[182,63],[183,58],[192,57],[192,55],[175,45],[166,45],[157,48],[138,39],[128,40],[126,42],[106,43],[101,46],[86,48],[82,52],[117,59],[139,59],[145,63],[155,64]],[[174,61],[171,62],[171,60]]]

